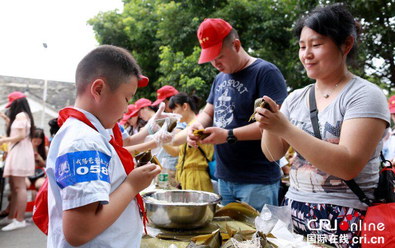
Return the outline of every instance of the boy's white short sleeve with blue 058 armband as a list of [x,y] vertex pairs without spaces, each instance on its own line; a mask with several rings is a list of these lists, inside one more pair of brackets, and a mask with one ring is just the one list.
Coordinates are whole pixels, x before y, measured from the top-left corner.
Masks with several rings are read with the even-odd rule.
[[75,141],[59,152],[55,180],[60,188],[63,211],[110,200],[111,151],[92,141]]

